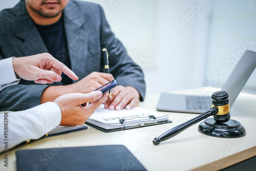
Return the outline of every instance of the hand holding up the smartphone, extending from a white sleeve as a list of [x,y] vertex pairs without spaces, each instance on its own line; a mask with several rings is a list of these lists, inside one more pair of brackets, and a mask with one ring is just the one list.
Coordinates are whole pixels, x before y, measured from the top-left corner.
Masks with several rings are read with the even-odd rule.
[[[101,97],[101,98],[100,98]],[[106,95],[102,96],[100,91],[88,94],[72,93],[59,96],[55,102],[61,110],[60,125],[76,126],[81,125],[94,113],[94,111],[105,100]],[[87,106],[81,104],[90,102]]]

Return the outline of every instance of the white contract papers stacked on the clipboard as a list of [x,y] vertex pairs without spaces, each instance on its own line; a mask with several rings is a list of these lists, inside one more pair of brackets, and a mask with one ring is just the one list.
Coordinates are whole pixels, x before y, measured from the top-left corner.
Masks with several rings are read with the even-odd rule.
[[104,109],[104,104],[87,119],[87,123],[99,126],[106,130],[143,126],[161,121],[168,121],[169,115],[151,111],[139,107],[132,110],[109,110]]

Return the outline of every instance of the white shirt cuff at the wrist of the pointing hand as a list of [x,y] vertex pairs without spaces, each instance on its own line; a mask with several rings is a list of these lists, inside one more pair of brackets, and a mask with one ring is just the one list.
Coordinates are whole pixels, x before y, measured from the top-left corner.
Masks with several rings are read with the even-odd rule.
[[12,58],[13,57],[0,60],[0,91],[8,86],[17,84],[20,80],[16,78],[14,73]]

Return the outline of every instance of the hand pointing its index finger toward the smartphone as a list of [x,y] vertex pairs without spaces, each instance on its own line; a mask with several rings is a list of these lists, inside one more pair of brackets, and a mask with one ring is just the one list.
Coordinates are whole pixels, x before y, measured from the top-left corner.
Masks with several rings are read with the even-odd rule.
[[58,82],[61,80],[61,72],[73,80],[78,80],[73,71],[49,53],[12,58],[12,64],[14,72],[19,77],[26,80],[34,80],[35,83]]

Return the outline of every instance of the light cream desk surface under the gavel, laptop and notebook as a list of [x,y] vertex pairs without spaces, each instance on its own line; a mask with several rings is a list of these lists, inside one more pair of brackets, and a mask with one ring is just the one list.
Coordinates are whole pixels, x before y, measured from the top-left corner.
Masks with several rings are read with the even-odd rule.
[[[187,90],[182,93],[209,94],[210,89]],[[140,103],[141,108],[156,111],[160,94],[147,95]],[[15,151],[17,149],[55,148],[72,146],[91,146],[122,144],[125,145],[147,170],[219,170],[250,157],[256,156],[256,113],[254,112],[256,95],[241,93],[233,104],[231,119],[239,121],[246,129],[246,136],[241,138],[216,138],[197,131],[199,123],[189,127],[179,135],[161,142],[152,143],[165,131],[177,126],[198,114],[168,112],[173,123],[141,127],[138,129],[103,133],[88,126],[88,130],[49,137],[25,144],[8,153],[8,168],[4,167],[4,153],[0,155],[0,170],[16,170]]]

